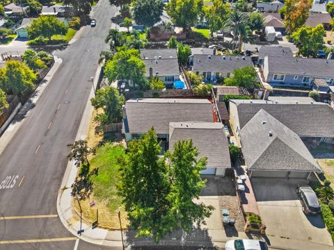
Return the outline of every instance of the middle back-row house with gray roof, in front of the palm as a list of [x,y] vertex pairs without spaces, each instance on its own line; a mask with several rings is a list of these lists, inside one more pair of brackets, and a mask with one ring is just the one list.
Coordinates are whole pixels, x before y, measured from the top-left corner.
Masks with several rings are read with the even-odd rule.
[[193,55],[191,70],[201,74],[207,81],[231,77],[234,69],[253,67],[250,56]]

